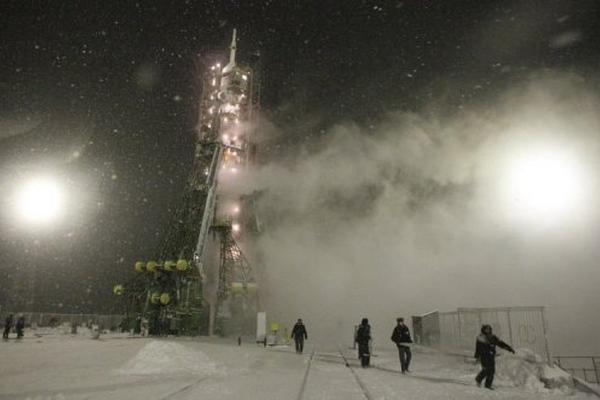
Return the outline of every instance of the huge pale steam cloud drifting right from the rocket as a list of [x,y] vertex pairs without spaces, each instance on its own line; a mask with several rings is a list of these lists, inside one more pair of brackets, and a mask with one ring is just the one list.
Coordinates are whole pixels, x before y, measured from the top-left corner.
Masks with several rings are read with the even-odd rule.
[[[344,123],[318,151],[255,171],[269,318],[302,317],[315,341],[349,344],[366,316],[385,344],[397,316],[545,305],[555,349],[599,351],[600,103],[589,82],[538,73],[493,106],[440,114]],[[586,207],[560,221],[513,217],[498,191],[511,155],[540,143],[585,170]]]

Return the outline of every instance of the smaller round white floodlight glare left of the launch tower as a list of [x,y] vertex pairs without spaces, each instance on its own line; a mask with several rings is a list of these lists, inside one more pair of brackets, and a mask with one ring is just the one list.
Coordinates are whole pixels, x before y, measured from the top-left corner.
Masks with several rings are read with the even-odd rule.
[[17,190],[15,206],[21,221],[47,224],[60,216],[63,209],[63,193],[59,185],[51,179],[34,179]]

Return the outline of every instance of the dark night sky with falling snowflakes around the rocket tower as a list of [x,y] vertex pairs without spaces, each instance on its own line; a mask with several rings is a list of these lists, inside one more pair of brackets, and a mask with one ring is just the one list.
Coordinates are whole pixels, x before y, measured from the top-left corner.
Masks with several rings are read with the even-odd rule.
[[591,76],[596,1],[4,2],[0,175],[52,169],[77,197],[51,232],[0,227],[0,303],[39,270],[38,310],[115,311],[111,287],[155,254],[193,154],[201,60],[262,54],[264,116],[294,152],[335,123],[485,104],[551,68]]

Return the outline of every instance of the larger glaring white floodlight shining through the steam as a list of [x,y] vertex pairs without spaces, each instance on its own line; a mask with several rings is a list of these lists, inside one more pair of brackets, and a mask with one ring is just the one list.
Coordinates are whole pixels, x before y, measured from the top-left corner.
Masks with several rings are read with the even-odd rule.
[[523,152],[509,161],[503,191],[510,213],[548,221],[578,211],[583,181],[573,157],[559,148],[544,148]]

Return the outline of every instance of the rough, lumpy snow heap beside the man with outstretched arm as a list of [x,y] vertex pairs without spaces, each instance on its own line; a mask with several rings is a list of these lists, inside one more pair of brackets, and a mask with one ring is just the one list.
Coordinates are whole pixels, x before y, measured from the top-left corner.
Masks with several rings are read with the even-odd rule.
[[497,362],[499,377],[514,386],[528,391],[549,393],[559,391],[571,394],[574,382],[571,375],[562,369],[549,366],[544,359],[528,349],[519,349],[515,356],[504,355]]

